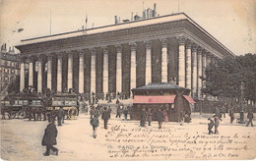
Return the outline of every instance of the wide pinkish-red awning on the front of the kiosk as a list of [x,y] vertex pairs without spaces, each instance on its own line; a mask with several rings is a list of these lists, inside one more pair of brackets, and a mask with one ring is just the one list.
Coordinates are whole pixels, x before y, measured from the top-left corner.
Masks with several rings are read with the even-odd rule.
[[135,95],[133,103],[174,103],[176,95]]

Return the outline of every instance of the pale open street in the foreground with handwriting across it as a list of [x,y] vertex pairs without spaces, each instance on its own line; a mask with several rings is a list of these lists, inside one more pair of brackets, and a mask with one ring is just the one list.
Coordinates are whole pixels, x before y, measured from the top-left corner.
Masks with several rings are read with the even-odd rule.
[[[211,114],[209,114],[211,116]],[[238,116],[238,115],[237,115]],[[139,121],[123,121],[111,116],[108,129],[99,119],[93,137],[89,115],[65,120],[57,126],[58,156],[43,156],[41,138],[46,121],[1,120],[1,158],[4,160],[140,160],[140,159],[252,159],[255,158],[256,128],[221,122],[220,134],[208,134],[208,114],[192,114],[192,123],[158,122],[146,128]],[[213,129],[214,130],[214,129]]]

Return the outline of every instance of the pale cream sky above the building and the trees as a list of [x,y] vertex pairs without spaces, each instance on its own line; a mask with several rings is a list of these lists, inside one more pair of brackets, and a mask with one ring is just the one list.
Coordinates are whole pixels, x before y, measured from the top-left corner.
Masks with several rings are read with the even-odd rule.
[[[256,0],[0,0],[0,44],[114,24],[143,8],[160,16],[184,12],[235,55],[256,53]],[[24,28],[18,31],[19,28]]]

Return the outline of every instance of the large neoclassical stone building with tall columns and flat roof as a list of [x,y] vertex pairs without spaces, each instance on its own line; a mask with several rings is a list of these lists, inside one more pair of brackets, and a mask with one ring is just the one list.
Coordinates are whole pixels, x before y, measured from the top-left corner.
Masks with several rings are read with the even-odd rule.
[[33,85],[37,92],[48,87],[131,93],[150,82],[174,80],[199,99],[206,66],[234,57],[184,13],[24,39],[16,48],[22,57],[21,90]]

